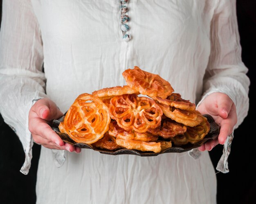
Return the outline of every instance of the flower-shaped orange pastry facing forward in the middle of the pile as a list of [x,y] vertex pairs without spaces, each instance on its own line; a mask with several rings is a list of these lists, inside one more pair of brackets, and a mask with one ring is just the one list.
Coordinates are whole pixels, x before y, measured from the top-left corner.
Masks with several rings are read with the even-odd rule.
[[163,114],[153,99],[138,97],[136,94],[113,97],[110,100],[109,112],[119,127],[140,133],[159,126]]

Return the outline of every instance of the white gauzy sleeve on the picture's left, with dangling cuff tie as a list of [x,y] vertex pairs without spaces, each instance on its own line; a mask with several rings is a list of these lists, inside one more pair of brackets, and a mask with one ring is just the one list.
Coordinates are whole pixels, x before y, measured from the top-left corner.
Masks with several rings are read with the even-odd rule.
[[35,99],[46,97],[43,46],[29,0],[4,0],[0,31],[0,112],[25,151],[20,169],[27,174],[33,140],[28,112]]

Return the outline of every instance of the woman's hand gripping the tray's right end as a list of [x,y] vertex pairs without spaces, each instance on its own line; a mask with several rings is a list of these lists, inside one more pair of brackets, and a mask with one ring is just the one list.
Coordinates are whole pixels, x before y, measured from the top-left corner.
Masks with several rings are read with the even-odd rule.
[[232,134],[234,126],[237,123],[236,106],[227,94],[215,92],[207,96],[198,106],[201,114],[209,114],[214,121],[220,125],[220,134],[218,139],[211,140],[203,144],[198,149],[200,151],[211,151],[218,144],[224,145],[227,136]]

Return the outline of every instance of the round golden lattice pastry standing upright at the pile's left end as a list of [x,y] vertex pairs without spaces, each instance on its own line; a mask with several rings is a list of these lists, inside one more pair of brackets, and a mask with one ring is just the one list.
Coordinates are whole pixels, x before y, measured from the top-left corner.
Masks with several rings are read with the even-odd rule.
[[92,94],[81,94],[65,115],[59,129],[76,143],[92,144],[108,131],[110,115],[108,107]]

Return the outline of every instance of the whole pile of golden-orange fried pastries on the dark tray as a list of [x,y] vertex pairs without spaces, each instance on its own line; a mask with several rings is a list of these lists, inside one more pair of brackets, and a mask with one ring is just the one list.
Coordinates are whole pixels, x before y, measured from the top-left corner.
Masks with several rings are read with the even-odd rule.
[[122,75],[127,86],[79,95],[60,123],[60,132],[100,149],[155,153],[172,143],[198,143],[207,135],[207,118],[194,103],[173,93],[168,81],[137,66]]

